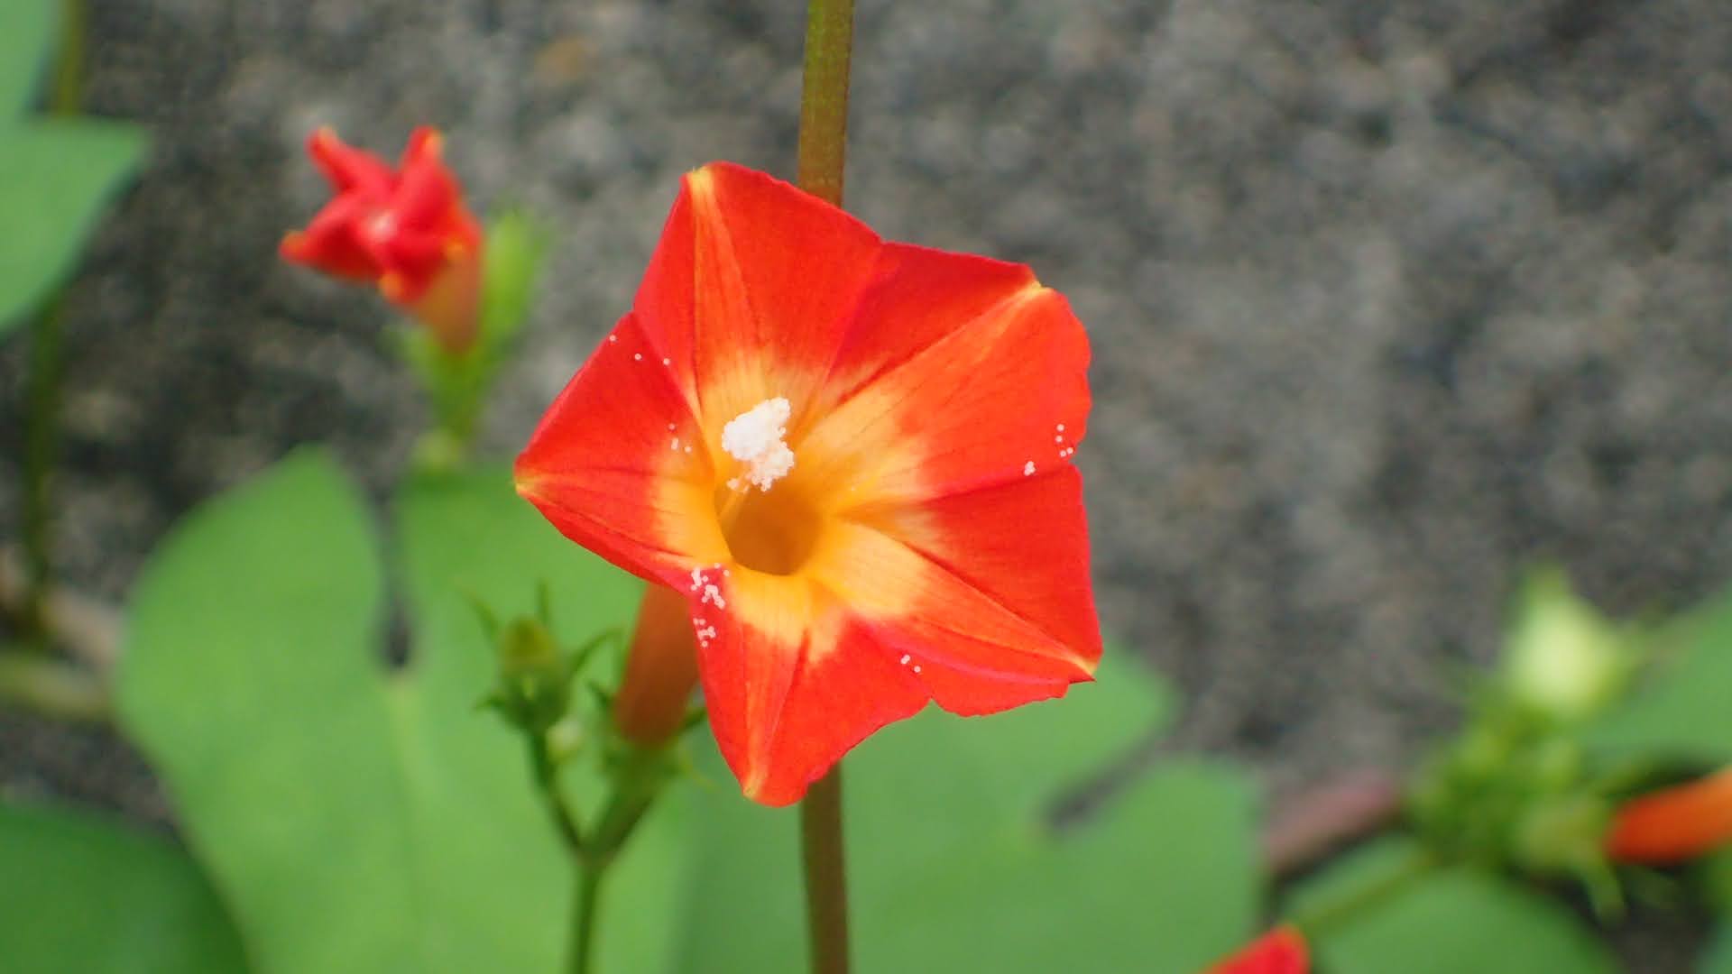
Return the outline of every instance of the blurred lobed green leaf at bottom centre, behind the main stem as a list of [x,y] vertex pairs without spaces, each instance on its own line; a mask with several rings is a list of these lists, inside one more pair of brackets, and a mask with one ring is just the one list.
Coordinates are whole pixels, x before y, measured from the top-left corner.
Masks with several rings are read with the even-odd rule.
[[[1252,790],[1173,764],[1076,828],[1046,804],[1164,719],[1169,693],[1112,653],[1065,700],[885,728],[843,775],[863,971],[1192,974],[1251,934],[1261,887]],[[800,971],[798,821],[738,795],[721,759],[689,795],[698,846],[674,971]]]

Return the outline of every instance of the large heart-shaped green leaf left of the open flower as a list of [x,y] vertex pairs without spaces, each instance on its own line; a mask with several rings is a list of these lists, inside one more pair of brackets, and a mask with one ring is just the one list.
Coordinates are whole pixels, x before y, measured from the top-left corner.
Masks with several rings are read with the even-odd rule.
[[[324,456],[196,513],[137,589],[123,718],[260,971],[553,971],[568,867],[521,742],[476,712],[492,660],[468,600],[528,614],[547,581],[577,640],[625,624],[637,582],[558,537],[499,470],[409,485],[397,529],[412,648],[391,671],[374,532]],[[677,811],[610,880],[603,971],[662,964],[641,913],[677,882]]]

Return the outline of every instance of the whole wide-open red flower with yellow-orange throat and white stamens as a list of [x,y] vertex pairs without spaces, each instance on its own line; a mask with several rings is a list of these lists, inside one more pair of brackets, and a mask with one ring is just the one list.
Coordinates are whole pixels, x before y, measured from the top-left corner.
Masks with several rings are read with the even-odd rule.
[[1089,679],[1086,366],[1027,267],[887,244],[714,163],[518,492],[686,596],[722,756],[788,804],[927,700],[986,714]]

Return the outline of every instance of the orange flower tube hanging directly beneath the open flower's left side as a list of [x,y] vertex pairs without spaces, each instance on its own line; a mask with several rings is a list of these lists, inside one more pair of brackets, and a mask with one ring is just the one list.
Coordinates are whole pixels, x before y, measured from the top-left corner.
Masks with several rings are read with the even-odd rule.
[[698,646],[686,596],[650,584],[637,608],[637,629],[625,655],[625,679],[613,700],[613,721],[625,740],[658,747],[686,723],[695,686]]

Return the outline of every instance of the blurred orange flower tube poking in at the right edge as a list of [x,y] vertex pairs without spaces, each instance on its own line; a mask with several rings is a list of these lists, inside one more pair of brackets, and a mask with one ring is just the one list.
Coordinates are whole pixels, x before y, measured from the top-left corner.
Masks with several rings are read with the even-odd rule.
[[1623,863],[1680,863],[1732,842],[1732,768],[1632,799],[1612,816],[1606,854]]

